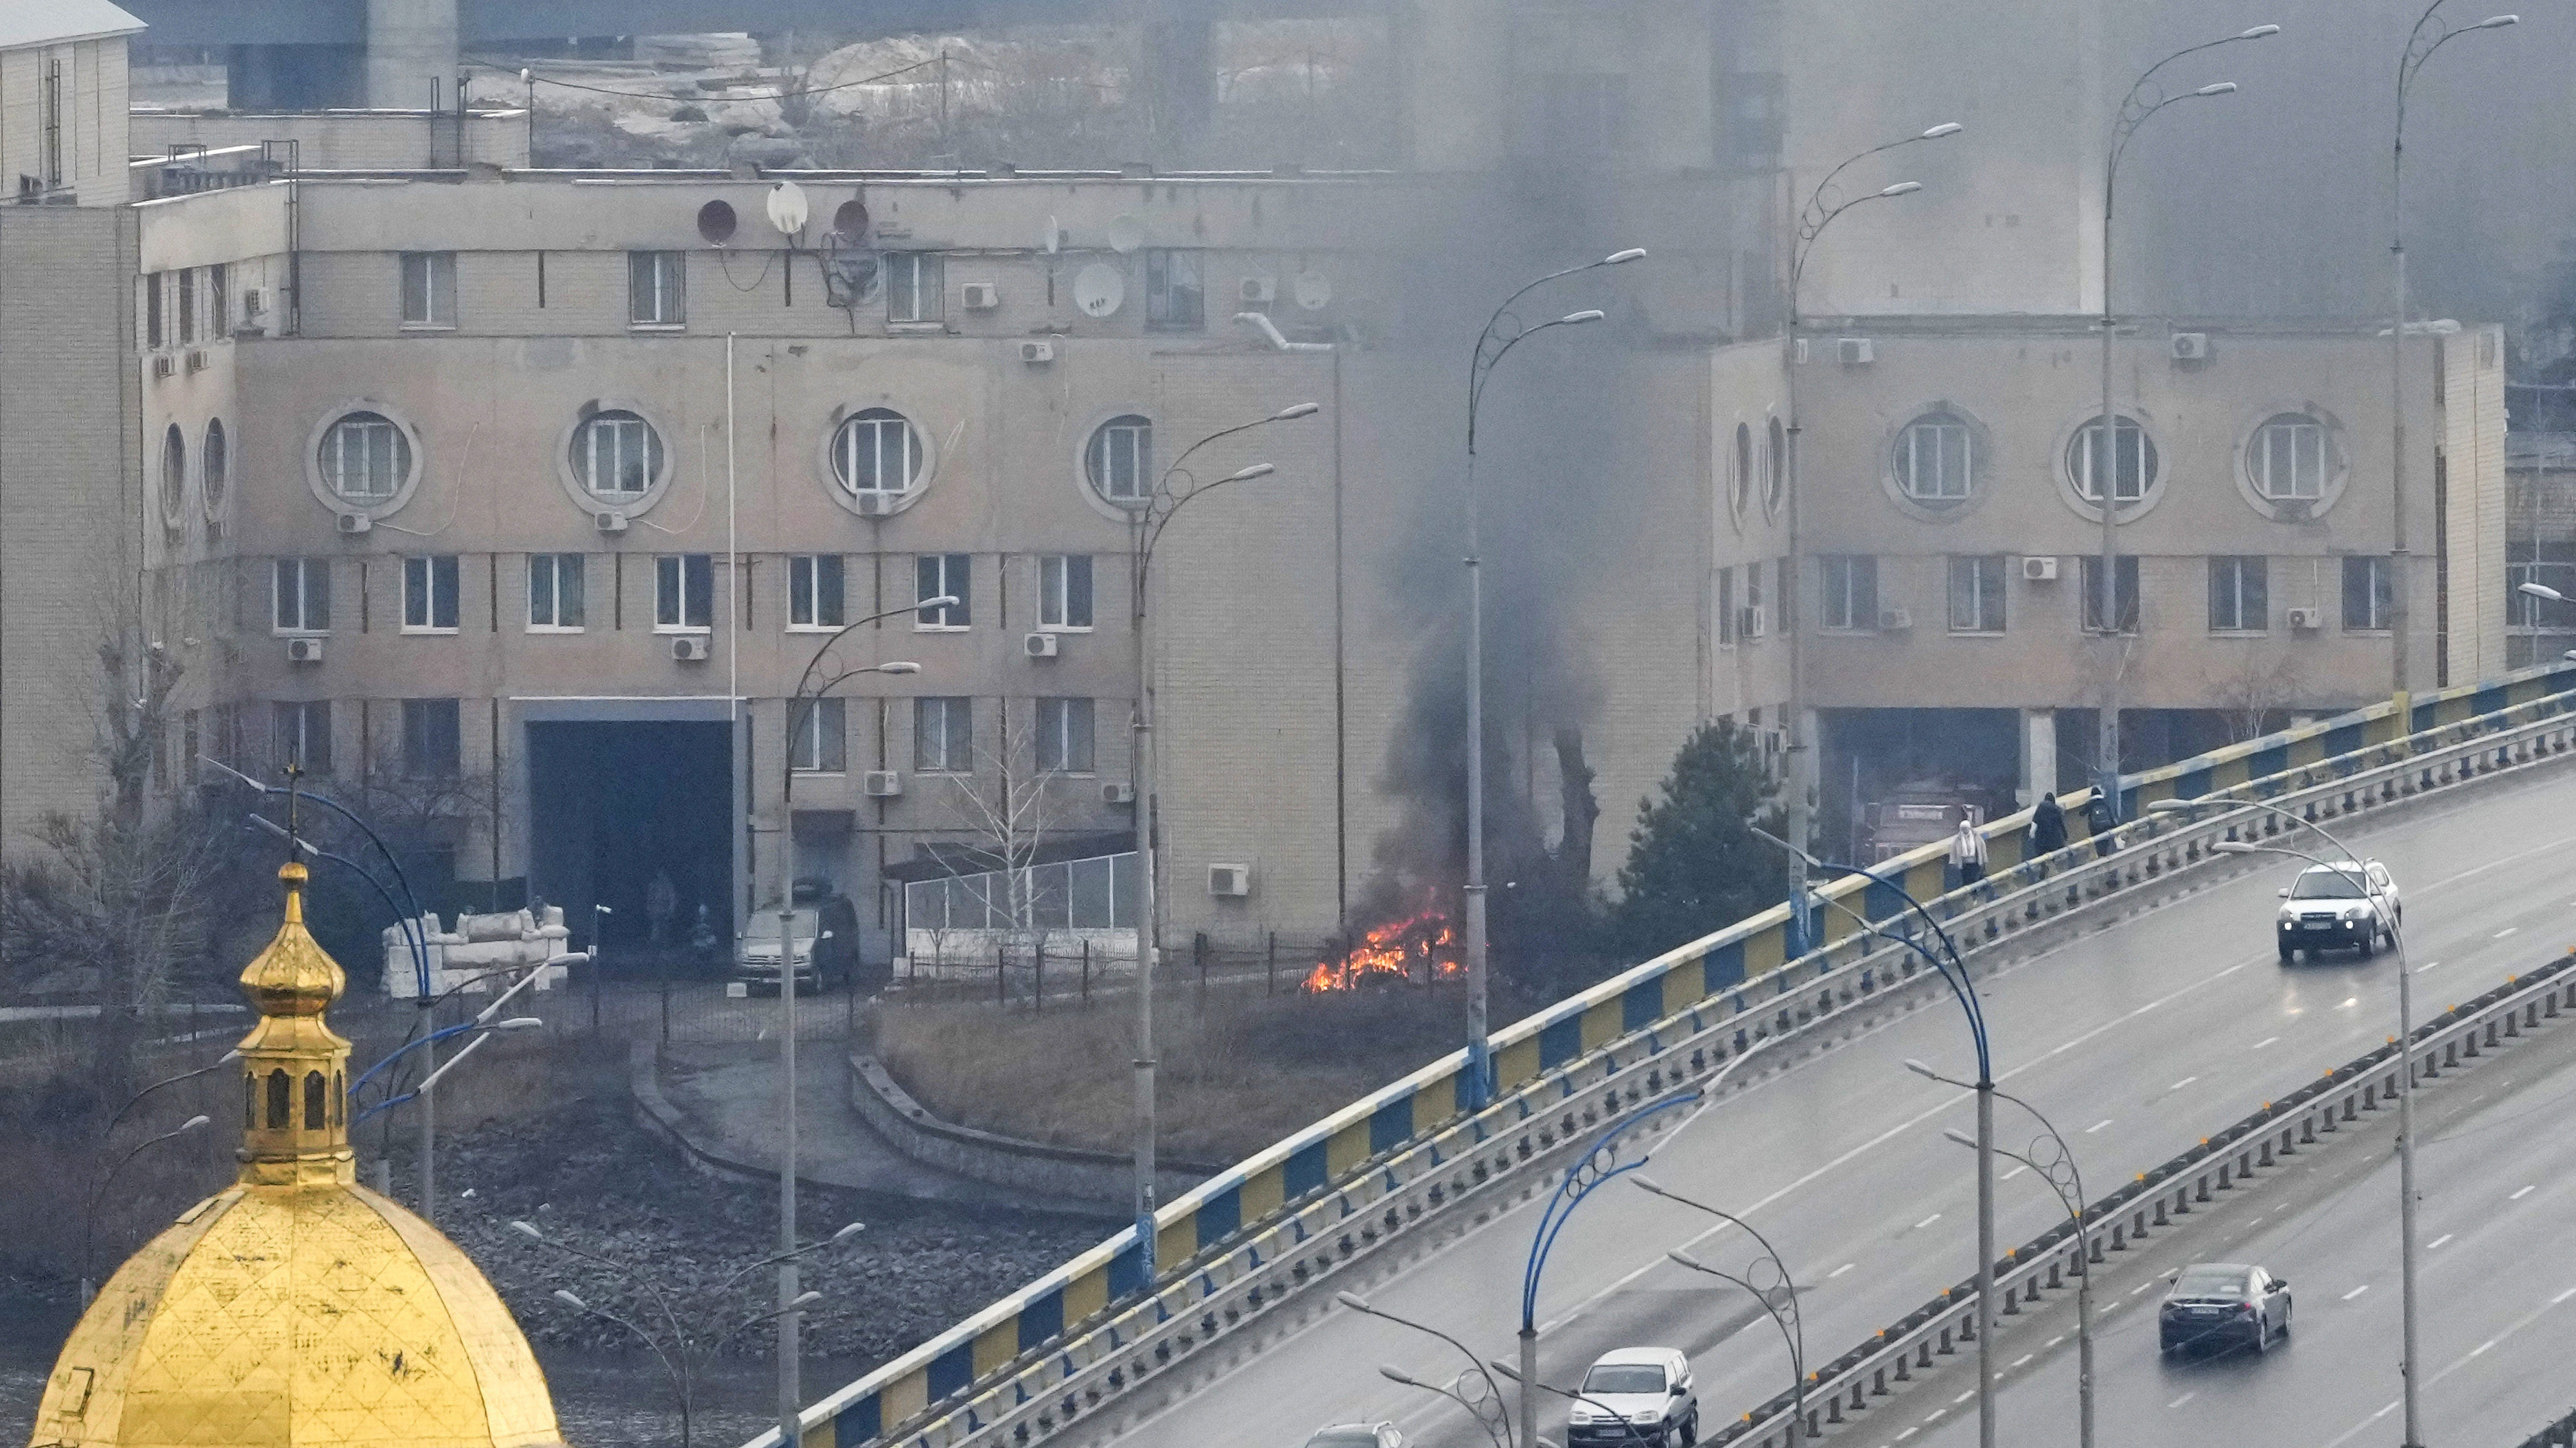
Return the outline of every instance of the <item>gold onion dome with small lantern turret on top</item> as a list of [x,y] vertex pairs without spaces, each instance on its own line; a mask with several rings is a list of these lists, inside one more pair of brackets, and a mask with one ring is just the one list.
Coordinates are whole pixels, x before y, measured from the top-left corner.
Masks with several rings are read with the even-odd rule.
[[286,922],[242,971],[242,1175],[108,1278],[44,1384],[31,1448],[541,1448],[546,1376],[492,1283],[355,1183],[340,964]]

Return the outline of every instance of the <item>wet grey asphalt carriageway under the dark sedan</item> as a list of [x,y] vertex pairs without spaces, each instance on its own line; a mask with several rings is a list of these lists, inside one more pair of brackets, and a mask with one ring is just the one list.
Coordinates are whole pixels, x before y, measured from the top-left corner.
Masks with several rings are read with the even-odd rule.
[[[2421,1430],[2427,1443],[2506,1448],[2576,1407],[2576,1028],[2553,1025],[2429,1087],[2416,1105]],[[2249,1190],[2215,1232],[2177,1234],[2151,1270],[2102,1278],[2117,1304],[2094,1329],[2099,1448],[2398,1440],[2398,1167],[2393,1113],[2336,1144],[2303,1180]],[[2156,1348],[2156,1299],[2179,1260],[2262,1262],[2290,1281],[2290,1337],[2269,1355]],[[2074,1443],[2076,1368],[2066,1311],[2032,1322],[1999,1389],[1999,1440]],[[2043,1345],[2048,1342],[2048,1345]],[[1870,1415],[1855,1448],[1973,1448],[1973,1373],[1947,1373]]]

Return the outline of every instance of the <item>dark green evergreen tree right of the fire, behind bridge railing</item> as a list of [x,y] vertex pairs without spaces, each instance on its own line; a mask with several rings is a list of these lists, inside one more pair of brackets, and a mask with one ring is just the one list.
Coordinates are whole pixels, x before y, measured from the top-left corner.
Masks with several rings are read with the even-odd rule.
[[1638,801],[1620,902],[1610,930],[1638,964],[1757,915],[1788,897],[1788,861],[1752,835],[1785,835],[1780,781],[1762,763],[1754,729],[1703,724],[1672,760],[1662,799]]

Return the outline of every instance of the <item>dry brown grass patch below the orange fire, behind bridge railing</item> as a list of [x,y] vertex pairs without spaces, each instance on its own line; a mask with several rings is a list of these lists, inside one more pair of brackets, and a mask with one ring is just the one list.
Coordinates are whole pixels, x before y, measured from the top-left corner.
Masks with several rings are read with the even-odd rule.
[[[1520,1002],[1494,1000],[1494,1020]],[[873,1018],[878,1059],[933,1113],[1054,1147],[1126,1152],[1136,1113],[1136,1010],[1105,997],[1046,1015],[992,1005],[896,1005]],[[1157,992],[1159,1152],[1229,1165],[1455,1051],[1458,987],[1321,997]]]

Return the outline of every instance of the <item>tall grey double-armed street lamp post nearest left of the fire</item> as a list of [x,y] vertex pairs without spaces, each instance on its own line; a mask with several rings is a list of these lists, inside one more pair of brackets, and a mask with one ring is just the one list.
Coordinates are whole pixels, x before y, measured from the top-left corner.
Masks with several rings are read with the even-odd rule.
[[[1249,423],[1236,423],[1231,428],[1218,428],[1206,438],[1190,443],[1172,459],[1172,466],[1162,469],[1154,479],[1154,492],[1144,495],[1133,508],[1128,508],[1128,636],[1136,652],[1136,711],[1128,716],[1128,788],[1136,794],[1136,1252],[1144,1268],[1144,1281],[1154,1281],[1154,1136],[1157,1110],[1154,1110],[1154,966],[1162,964],[1162,881],[1157,879],[1157,850],[1154,850],[1154,675],[1146,652],[1146,585],[1154,569],[1154,544],[1162,541],[1162,531],[1180,515],[1182,508],[1195,497],[1206,497],[1229,482],[1252,482],[1278,472],[1270,464],[1252,464],[1229,472],[1226,477],[1200,484],[1198,477],[1185,472],[1180,464],[1190,461],[1198,448],[1218,438],[1231,438],[1236,433],[1249,433],[1252,428],[1267,428],[1270,423],[1296,423],[1298,417],[1314,417],[1324,407],[1319,402],[1296,402],[1280,407],[1267,417],[1255,417]],[[1182,490],[1172,490],[1172,479],[1185,479]],[[1115,502],[1115,500],[1113,500]],[[793,1448],[793,1445],[788,1445]]]

